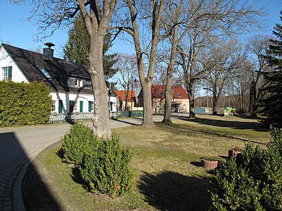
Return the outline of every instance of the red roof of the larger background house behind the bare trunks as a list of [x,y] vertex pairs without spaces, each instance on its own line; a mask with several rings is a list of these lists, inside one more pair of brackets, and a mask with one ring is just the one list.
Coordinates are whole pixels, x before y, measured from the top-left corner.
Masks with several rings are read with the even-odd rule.
[[[165,98],[165,89],[165,85],[152,85],[152,98]],[[188,94],[182,86],[173,86],[173,98],[188,99]]]

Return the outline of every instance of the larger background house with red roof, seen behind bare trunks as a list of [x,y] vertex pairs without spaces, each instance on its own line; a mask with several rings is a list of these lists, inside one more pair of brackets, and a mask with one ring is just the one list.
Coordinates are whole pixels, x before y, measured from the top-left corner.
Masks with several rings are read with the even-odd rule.
[[[155,113],[162,113],[164,112],[164,105],[165,105],[165,85],[152,85],[151,93],[152,93],[152,109]],[[140,95],[138,96],[139,106],[142,107],[142,100],[143,94],[142,90]],[[177,113],[188,113],[189,112],[189,98],[188,93],[185,89],[180,86],[173,86],[173,100],[171,102],[172,112]]]

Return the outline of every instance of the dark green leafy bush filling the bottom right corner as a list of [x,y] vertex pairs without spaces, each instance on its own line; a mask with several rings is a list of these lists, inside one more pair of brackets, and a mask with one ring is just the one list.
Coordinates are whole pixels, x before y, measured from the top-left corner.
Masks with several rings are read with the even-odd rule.
[[242,162],[222,165],[210,181],[210,210],[282,210],[282,130],[268,149],[246,145]]

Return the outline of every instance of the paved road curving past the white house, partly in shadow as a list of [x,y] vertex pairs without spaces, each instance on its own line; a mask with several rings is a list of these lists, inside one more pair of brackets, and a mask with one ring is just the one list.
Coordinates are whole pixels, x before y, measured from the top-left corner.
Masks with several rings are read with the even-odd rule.
[[[162,116],[154,115],[155,122],[161,120]],[[110,120],[111,129],[141,123],[140,118]],[[91,125],[91,122],[86,124]],[[69,127],[69,124],[53,124],[0,129],[0,210],[24,210],[21,199],[22,169],[27,168],[30,160],[44,148],[58,142]]]

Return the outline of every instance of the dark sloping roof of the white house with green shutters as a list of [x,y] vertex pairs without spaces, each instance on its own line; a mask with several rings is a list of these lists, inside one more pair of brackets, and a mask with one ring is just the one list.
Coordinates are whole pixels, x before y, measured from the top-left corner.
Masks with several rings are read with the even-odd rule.
[[[45,82],[53,91],[93,93],[92,89],[89,89],[89,86],[88,88],[69,86],[67,80],[69,76],[90,80],[88,73],[89,67],[55,57],[52,60],[46,60],[43,58],[43,54],[12,45],[2,44],[2,46],[6,49],[29,82]],[[43,67],[51,78],[45,77],[39,70],[39,67]]]

